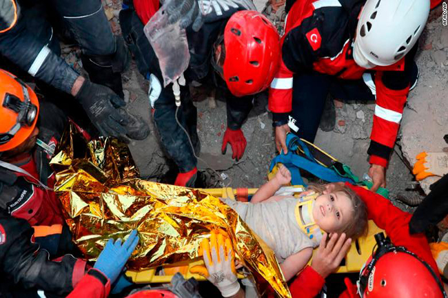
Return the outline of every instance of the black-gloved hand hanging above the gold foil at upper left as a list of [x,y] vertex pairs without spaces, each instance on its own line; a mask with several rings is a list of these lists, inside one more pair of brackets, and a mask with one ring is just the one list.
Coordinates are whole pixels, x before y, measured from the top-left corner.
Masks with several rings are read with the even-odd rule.
[[93,125],[102,136],[114,136],[125,139],[128,133],[125,125],[129,119],[127,114],[119,113],[116,107],[123,107],[125,102],[118,95],[103,85],[84,81],[77,96]]

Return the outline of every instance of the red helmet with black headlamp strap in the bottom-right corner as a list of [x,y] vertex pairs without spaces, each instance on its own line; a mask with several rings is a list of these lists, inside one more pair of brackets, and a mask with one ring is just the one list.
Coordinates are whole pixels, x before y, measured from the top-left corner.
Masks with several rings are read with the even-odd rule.
[[377,239],[377,251],[361,270],[361,297],[446,297],[438,274],[427,263],[406,248],[393,246],[384,235],[380,241],[383,243]]

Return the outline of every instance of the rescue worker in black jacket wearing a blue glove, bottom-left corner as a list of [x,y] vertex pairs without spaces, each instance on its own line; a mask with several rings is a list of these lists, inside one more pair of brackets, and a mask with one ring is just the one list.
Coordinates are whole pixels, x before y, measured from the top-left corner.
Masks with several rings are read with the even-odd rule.
[[60,224],[31,227],[26,220],[0,210],[2,295],[65,297],[71,292],[69,297],[107,297],[111,285],[112,292],[120,292],[123,267],[139,242],[136,231],[123,244],[109,240],[93,268],[67,254],[73,246],[67,232]]

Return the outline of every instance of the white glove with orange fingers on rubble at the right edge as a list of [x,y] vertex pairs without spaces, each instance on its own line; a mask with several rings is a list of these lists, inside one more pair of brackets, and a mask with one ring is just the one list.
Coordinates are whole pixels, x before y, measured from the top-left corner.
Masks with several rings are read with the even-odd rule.
[[416,180],[423,180],[429,176],[448,174],[448,153],[446,152],[421,152],[417,156],[412,173]]

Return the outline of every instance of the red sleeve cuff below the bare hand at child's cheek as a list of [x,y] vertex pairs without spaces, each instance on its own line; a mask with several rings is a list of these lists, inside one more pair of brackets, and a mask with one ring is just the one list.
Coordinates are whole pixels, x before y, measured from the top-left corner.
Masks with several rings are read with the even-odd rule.
[[292,281],[289,290],[293,298],[312,298],[319,294],[325,284],[321,277],[311,266],[305,269]]

